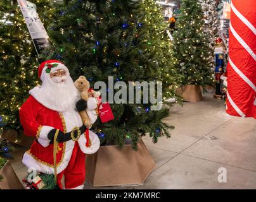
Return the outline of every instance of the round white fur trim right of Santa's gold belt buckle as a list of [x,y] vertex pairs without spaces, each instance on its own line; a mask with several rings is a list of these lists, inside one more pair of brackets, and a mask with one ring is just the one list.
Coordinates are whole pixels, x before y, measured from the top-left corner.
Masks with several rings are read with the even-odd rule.
[[99,150],[100,141],[97,134],[93,133],[93,131],[89,131],[89,138],[91,140],[91,146],[86,147],[86,134],[82,134],[78,140],[80,150],[86,154],[92,154]]

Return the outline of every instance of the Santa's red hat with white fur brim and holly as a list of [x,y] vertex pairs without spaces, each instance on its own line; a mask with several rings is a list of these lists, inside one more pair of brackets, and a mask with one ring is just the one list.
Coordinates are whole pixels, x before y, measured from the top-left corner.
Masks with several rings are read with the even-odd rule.
[[46,76],[50,76],[50,73],[57,71],[58,69],[63,69],[68,75],[68,68],[60,61],[50,59],[48,61],[44,61],[39,65],[38,68],[38,77],[44,81]]

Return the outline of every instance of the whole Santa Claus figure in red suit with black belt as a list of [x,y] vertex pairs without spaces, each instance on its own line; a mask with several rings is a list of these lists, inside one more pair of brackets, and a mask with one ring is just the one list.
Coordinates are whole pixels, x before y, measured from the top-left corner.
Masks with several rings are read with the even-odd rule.
[[[45,61],[39,66],[38,76],[42,85],[30,90],[30,97],[20,109],[24,134],[35,137],[22,162],[37,172],[54,174],[53,141],[59,130],[55,164],[57,185],[63,189],[61,178],[64,175],[65,189],[82,189],[86,177],[85,155],[98,150],[99,138],[82,124],[75,107],[81,103],[80,93],[68,68],[60,61]],[[96,120],[93,111],[97,102],[95,98],[89,98],[84,107],[92,124]]]

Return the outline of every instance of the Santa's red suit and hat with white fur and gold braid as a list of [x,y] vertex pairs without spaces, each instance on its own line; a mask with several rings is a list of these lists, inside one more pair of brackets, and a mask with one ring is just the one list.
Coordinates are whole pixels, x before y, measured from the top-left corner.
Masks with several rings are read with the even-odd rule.
[[[51,71],[47,73],[48,67],[45,64],[53,64],[53,62],[58,66],[49,69]],[[44,79],[49,76],[50,72],[57,69],[65,70],[69,76],[67,67],[61,62],[53,60],[43,62],[39,67],[39,76],[42,82],[44,83]],[[22,162],[27,167],[34,167],[38,172],[54,174],[53,144],[50,144],[48,139],[49,131],[60,129],[65,134],[74,131],[75,127],[80,128],[83,123],[75,107],[67,107],[65,110],[61,107],[58,109],[58,105],[53,104],[42,93],[40,89],[42,86],[36,86],[30,90],[30,97],[20,109],[20,121],[24,134],[35,137],[30,150],[24,154]],[[96,107],[97,100],[89,98],[86,110],[92,124],[97,118]],[[85,155],[94,153],[99,148],[99,138],[92,131],[89,131],[89,139],[91,140],[90,147],[86,146],[85,134],[81,134],[77,141],[69,140],[58,143],[57,184],[61,189],[63,188],[61,186],[63,175],[65,175],[66,189],[82,189],[86,176]]]

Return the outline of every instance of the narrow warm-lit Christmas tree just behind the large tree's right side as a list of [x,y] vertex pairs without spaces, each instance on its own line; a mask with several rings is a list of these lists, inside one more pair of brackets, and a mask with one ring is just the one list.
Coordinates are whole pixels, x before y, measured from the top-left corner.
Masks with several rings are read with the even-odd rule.
[[[142,37],[152,43],[155,61],[158,62],[159,80],[163,81],[163,90],[166,90],[163,100],[176,97],[177,102],[181,104],[181,99],[175,92],[181,83],[182,76],[177,73],[172,62],[173,45],[167,35],[169,24],[163,21],[162,6],[156,4],[154,0],[141,1],[138,18],[146,25],[145,29],[141,30]],[[150,58],[151,51],[146,53]]]

